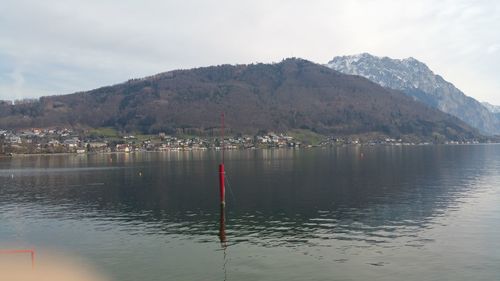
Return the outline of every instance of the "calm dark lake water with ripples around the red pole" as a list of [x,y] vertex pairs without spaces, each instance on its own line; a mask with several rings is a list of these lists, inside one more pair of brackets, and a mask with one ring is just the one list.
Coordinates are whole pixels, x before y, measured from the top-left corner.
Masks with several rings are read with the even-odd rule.
[[0,159],[0,245],[120,281],[500,280],[499,145],[228,151],[225,229],[219,161]]

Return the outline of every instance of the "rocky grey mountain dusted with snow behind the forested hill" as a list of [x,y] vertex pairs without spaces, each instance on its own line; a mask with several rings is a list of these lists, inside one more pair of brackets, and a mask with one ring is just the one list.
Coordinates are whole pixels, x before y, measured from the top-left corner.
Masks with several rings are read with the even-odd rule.
[[327,66],[400,90],[415,100],[458,117],[482,133],[500,134],[500,119],[414,58],[399,60],[364,53],[335,57]]

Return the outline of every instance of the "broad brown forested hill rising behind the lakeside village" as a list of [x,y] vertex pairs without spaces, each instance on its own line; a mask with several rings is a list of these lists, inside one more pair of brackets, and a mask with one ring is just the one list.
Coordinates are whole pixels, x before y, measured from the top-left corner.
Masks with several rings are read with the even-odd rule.
[[0,128],[114,127],[144,133],[210,133],[227,115],[233,133],[311,130],[434,140],[480,135],[455,117],[302,59],[220,65],[39,101],[0,103]]

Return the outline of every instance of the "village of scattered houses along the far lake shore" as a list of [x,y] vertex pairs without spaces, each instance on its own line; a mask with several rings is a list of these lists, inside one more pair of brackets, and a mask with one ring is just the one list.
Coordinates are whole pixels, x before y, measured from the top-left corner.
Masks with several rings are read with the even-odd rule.
[[[308,140],[304,140],[308,139]],[[401,139],[385,138],[378,141],[360,142],[359,139],[313,136],[293,137],[285,134],[266,133],[261,135],[227,137],[225,149],[258,148],[308,148],[330,145],[429,145],[432,143],[408,143]],[[445,142],[445,144],[471,144],[477,141]],[[63,129],[30,129],[9,131],[0,129],[0,155],[42,154],[42,153],[109,153],[137,151],[188,151],[220,149],[219,138],[196,136],[174,137],[158,135],[112,135],[78,134]]]

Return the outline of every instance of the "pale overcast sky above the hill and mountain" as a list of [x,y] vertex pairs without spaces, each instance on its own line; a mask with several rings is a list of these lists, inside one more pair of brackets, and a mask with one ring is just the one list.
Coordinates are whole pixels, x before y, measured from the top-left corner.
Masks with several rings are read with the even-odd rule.
[[178,68],[415,57],[500,105],[500,1],[0,0],[0,99]]

